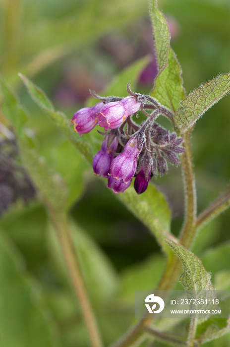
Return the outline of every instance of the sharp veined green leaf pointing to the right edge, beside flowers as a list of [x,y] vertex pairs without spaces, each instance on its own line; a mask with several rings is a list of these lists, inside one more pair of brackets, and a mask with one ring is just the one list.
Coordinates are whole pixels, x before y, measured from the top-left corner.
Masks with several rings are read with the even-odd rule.
[[202,84],[180,103],[174,116],[176,126],[181,131],[191,128],[199,117],[229,92],[230,72]]

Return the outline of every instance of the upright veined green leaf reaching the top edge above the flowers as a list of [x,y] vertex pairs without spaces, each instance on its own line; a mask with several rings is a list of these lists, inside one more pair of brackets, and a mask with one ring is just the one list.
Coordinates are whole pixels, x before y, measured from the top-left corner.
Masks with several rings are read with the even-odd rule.
[[153,0],[151,14],[158,75],[150,95],[174,112],[185,98],[182,71],[170,47],[169,27],[163,13],[157,8],[157,0]]

